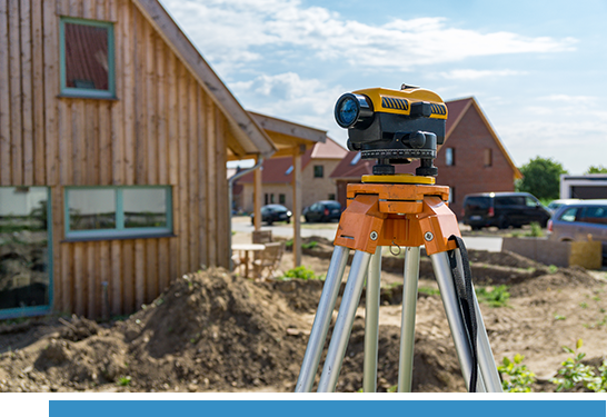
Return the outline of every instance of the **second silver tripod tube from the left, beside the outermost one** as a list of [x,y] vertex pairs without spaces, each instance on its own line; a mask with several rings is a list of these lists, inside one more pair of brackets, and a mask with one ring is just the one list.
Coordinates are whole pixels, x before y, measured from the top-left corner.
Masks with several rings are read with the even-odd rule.
[[348,282],[341,297],[341,305],[331,336],[331,342],[329,344],[329,350],[325,359],[320,381],[318,383],[318,394],[332,394],[335,391],[370,259],[371,254],[360,250],[355,252]]

